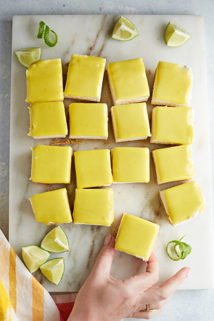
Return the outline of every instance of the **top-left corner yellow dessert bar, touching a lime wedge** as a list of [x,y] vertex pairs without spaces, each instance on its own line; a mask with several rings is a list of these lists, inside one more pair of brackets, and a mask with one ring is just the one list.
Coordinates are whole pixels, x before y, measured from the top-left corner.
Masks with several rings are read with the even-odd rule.
[[63,101],[63,75],[61,59],[38,60],[27,72],[26,102]]

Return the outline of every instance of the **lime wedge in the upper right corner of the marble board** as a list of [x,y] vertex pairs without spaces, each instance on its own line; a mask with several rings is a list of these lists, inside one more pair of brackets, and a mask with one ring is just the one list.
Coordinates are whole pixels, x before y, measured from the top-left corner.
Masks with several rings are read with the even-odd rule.
[[169,47],[180,47],[184,45],[192,36],[178,24],[169,22],[165,30],[164,39]]

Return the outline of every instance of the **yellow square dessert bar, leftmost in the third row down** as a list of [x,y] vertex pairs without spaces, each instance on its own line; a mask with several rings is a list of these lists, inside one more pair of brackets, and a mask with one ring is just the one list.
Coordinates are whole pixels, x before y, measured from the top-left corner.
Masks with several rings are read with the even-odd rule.
[[31,177],[37,183],[70,183],[71,156],[70,146],[37,145],[31,147]]

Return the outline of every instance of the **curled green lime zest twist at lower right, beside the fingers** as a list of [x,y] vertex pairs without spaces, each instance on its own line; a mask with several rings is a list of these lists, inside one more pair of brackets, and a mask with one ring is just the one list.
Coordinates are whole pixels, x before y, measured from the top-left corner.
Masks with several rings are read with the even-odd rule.
[[[166,251],[167,251],[167,255],[170,257],[171,260],[173,261],[178,261],[180,259],[184,260],[187,257],[187,255],[191,253],[192,247],[189,244],[186,244],[185,242],[181,242],[181,240],[185,236],[186,234],[179,241],[173,240],[167,244]],[[172,243],[175,243],[174,249],[175,249],[176,255],[171,251]]]

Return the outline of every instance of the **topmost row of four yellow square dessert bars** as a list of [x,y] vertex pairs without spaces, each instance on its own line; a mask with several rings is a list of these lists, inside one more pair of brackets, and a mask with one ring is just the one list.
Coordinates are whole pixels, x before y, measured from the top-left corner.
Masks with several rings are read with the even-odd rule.
[[[26,102],[63,101],[65,98],[100,101],[106,59],[72,55],[63,92],[61,59],[39,60],[27,70]],[[147,101],[150,92],[142,58],[108,63],[108,80],[114,105]],[[187,66],[160,61],[152,105],[189,106],[193,83]]]

